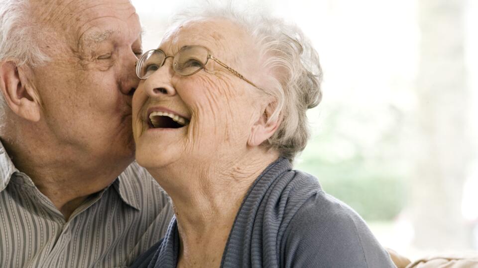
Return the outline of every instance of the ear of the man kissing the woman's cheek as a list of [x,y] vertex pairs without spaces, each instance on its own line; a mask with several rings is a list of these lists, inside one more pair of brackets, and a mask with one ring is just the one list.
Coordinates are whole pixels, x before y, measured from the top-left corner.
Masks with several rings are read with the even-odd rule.
[[19,117],[38,122],[41,114],[40,96],[29,83],[28,67],[13,62],[0,63],[0,90],[10,109]]

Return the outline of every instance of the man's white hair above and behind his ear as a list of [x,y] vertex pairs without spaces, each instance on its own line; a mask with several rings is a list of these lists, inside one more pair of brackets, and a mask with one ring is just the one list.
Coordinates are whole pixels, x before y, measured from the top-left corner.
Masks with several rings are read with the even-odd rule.
[[[29,0],[0,0],[0,63],[12,61],[16,66],[37,66],[48,61],[41,52],[40,26],[32,21]],[[7,105],[0,94],[0,129],[5,123]]]

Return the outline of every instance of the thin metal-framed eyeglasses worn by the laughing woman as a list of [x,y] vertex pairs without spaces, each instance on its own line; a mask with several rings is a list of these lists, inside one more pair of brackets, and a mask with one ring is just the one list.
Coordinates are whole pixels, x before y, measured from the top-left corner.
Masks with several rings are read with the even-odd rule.
[[[225,67],[233,74],[247,83],[257,87],[254,83],[246,79],[235,69],[222,63],[220,60],[209,54],[208,49],[201,46],[186,46],[183,47],[175,56],[166,56],[166,54],[159,49],[146,51],[136,62],[136,75],[139,79],[147,79],[151,74],[164,65],[167,58],[173,58],[173,70],[182,76],[193,75],[203,69],[208,63],[209,59],[217,62],[222,67]],[[260,89],[260,88],[259,88]]]

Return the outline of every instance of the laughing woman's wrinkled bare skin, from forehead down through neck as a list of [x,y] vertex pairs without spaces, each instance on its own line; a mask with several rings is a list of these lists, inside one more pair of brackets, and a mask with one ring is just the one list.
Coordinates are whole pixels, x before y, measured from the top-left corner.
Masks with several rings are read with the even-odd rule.
[[[211,55],[262,86],[258,52],[238,25],[222,18],[191,21],[170,31],[159,49],[176,55],[188,45],[208,48]],[[278,126],[266,123],[270,102],[270,97],[212,60],[205,69],[180,76],[168,58],[140,82],[133,96],[136,160],[173,201],[181,239],[178,267],[220,266],[247,189],[278,157],[276,151],[260,146]],[[167,110],[190,123],[178,129],[152,129],[150,109]]]

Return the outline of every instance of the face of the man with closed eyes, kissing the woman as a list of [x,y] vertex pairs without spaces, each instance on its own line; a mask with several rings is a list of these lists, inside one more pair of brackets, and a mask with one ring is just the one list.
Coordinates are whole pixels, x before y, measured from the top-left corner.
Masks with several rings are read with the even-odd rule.
[[30,81],[48,135],[72,154],[129,163],[134,64],[141,54],[134,7],[128,0],[32,2],[47,29],[42,49],[51,58],[33,69]]

